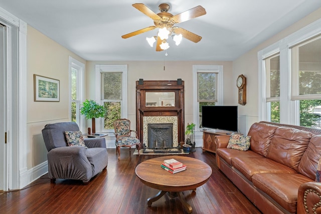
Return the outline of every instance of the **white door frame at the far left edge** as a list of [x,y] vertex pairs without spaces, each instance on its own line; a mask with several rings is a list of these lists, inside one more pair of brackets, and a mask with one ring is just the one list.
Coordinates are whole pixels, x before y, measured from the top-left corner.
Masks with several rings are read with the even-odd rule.
[[[20,189],[27,185],[27,24],[0,8],[0,23],[7,28],[7,144],[4,149],[6,163],[0,171],[0,189]],[[17,48],[18,47],[18,48]],[[0,141],[1,142],[1,141]],[[2,187],[2,188],[1,188]]]

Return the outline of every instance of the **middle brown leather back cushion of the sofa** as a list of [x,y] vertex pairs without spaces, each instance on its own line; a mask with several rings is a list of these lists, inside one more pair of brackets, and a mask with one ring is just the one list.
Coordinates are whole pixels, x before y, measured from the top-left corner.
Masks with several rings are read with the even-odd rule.
[[279,127],[274,132],[266,157],[297,170],[312,136],[311,132]]

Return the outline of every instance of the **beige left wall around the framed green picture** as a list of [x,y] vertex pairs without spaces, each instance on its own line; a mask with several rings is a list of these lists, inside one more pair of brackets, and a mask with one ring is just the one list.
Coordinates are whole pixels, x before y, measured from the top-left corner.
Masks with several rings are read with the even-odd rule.
[[[48,123],[69,121],[69,56],[77,55],[28,26],[27,34],[27,168],[47,160],[41,130]],[[60,80],[60,102],[34,102],[34,74]]]

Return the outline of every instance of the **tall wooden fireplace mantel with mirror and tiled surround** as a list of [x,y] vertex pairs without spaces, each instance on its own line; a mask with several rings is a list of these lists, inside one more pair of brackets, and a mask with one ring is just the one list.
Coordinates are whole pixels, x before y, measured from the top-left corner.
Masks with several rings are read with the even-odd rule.
[[[136,130],[138,138],[145,146],[149,142],[148,126],[150,124],[173,125],[171,145],[167,140],[156,142],[159,146],[176,147],[185,140],[184,81],[136,81]],[[162,125],[161,125],[162,124]],[[150,135],[149,135],[150,136]],[[172,136],[172,135],[171,135]],[[163,139],[162,139],[163,140]],[[149,146],[148,146],[149,147]]]

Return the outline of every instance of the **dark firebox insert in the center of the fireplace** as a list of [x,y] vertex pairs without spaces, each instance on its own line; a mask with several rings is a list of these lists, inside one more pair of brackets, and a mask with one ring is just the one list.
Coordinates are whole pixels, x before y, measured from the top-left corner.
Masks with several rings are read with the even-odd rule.
[[173,147],[173,123],[147,125],[148,148]]

